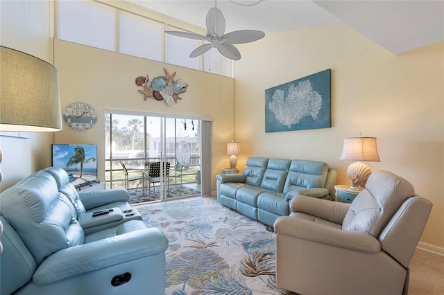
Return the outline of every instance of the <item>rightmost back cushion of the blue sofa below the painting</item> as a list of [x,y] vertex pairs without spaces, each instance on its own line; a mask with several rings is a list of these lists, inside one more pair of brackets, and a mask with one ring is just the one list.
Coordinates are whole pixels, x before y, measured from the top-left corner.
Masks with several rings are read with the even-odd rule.
[[321,161],[293,160],[284,185],[284,193],[301,188],[323,188],[328,165]]

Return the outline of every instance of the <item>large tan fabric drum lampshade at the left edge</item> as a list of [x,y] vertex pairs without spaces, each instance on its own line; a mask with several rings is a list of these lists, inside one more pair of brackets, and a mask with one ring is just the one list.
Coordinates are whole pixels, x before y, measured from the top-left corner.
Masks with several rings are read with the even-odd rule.
[[11,48],[0,51],[0,131],[62,130],[57,69]]

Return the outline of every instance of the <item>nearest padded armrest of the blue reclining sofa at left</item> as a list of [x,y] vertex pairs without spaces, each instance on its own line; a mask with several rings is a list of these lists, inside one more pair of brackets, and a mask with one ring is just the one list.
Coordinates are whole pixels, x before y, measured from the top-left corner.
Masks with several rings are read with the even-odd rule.
[[[56,283],[90,271],[99,271],[164,253],[167,248],[168,240],[162,231],[149,228],[62,249],[42,262],[33,275],[33,283],[36,285]],[[160,270],[165,266],[148,267]]]

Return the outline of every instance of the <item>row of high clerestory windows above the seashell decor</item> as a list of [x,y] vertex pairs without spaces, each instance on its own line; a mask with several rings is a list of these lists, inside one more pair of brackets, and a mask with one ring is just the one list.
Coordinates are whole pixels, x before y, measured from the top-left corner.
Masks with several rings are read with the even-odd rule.
[[112,1],[59,0],[55,9],[55,37],[150,60],[232,77],[232,60],[212,49],[203,57],[189,53],[203,42],[166,35],[181,30],[148,16],[123,11]]

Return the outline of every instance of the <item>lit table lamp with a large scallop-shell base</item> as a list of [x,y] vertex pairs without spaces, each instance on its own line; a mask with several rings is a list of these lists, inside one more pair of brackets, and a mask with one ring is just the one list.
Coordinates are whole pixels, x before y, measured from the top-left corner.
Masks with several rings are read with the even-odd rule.
[[360,161],[381,161],[377,154],[376,137],[344,138],[343,150],[340,160],[357,161],[347,168],[347,175],[352,180],[350,189],[361,190],[371,174],[370,168]]

